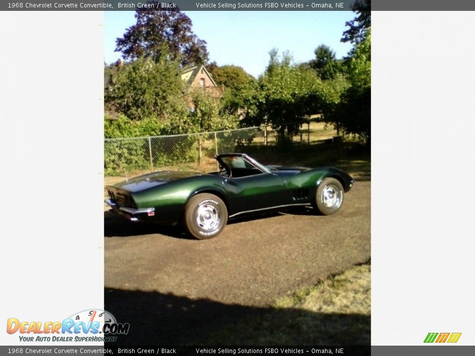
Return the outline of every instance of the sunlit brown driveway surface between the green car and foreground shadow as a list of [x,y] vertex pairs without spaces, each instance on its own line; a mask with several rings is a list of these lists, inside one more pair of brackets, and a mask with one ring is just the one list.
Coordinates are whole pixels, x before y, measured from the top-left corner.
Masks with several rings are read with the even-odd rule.
[[105,212],[106,291],[267,306],[370,258],[370,193],[370,181],[357,181],[333,216],[298,210],[241,220],[203,241]]

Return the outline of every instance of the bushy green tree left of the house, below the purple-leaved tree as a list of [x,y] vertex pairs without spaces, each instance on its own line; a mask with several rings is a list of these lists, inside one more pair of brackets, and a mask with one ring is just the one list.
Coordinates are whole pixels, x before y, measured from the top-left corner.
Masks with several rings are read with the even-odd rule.
[[154,118],[165,122],[186,115],[185,83],[178,63],[140,58],[118,68],[105,103],[131,120]]

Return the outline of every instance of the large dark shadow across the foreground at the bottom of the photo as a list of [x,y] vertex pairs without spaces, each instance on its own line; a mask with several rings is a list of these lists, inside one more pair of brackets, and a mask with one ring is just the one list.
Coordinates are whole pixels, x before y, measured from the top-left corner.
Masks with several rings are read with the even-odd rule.
[[104,309],[130,324],[113,345],[371,344],[371,317],[363,314],[230,305],[107,287]]

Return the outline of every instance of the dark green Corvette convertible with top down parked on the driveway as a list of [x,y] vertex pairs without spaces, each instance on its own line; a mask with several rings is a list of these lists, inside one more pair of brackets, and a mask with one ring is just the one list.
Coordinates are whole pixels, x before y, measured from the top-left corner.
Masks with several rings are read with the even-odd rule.
[[216,156],[213,173],[161,171],[106,187],[112,210],[131,221],[183,222],[198,239],[218,235],[228,219],[293,206],[336,213],[353,179],[336,168],[263,166],[243,153]]

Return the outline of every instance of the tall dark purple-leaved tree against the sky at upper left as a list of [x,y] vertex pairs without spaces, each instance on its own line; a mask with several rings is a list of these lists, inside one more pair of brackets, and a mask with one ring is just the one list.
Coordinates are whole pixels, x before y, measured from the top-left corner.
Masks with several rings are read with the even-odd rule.
[[[153,2],[160,7],[159,2]],[[190,18],[180,10],[137,10],[135,18],[137,23],[116,40],[115,50],[121,51],[124,59],[152,57],[157,61],[165,53],[181,66],[208,61],[206,42],[192,32]]]

